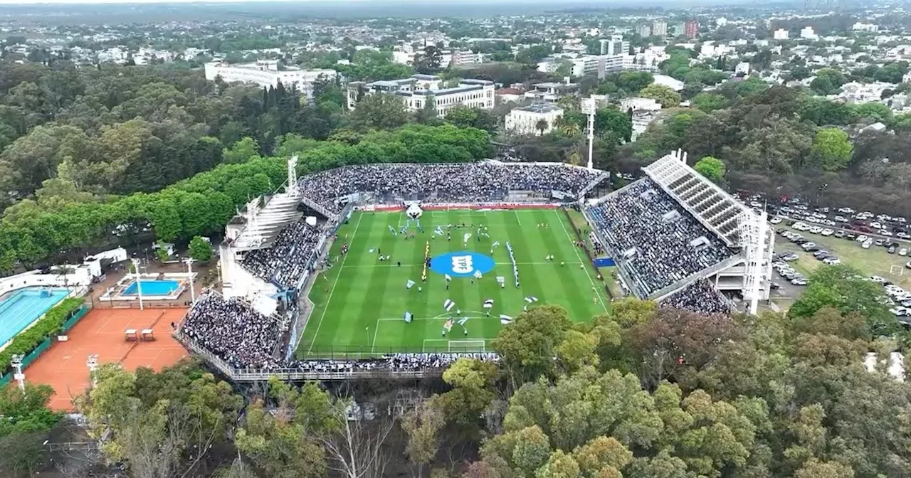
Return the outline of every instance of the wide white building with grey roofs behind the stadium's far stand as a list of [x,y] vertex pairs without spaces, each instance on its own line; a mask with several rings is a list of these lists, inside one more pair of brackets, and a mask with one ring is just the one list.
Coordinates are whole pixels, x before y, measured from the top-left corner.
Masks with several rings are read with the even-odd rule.
[[408,111],[419,111],[428,101],[433,102],[437,117],[445,117],[452,107],[466,106],[481,109],[494,107],[494,82],[487,80],[463,79],[458,86],[444,88],[443,81],[435,75],[415,75],[397,80],[348,84],[348,108],[357,107],[363,95],[394,95],[402,98]]

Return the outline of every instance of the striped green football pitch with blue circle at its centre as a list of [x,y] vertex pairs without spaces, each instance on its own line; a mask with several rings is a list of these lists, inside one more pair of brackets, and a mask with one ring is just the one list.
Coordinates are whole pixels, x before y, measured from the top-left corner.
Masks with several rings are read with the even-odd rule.
[[[391,226],[399,232],[406,219],[404,212],[355,212],[339,229],[330,249],[333,266],[312,286],[313,309],[299,358],[490,351],[490,341],[508,327],[500,316],[517,317],[527,306],[527,297],[536,297],[536,306],[562,306],[574,321],[591,320],[609,308],[603,283],[585,251],[574,245],[576,235],[562,210],[428,210],[420,219],[424,232],[408,229],[415,232],[414,239],[390,231]],[[481,226],[489,238],[477,233]],[[451,239],[435,234],[437,227]],[[466,233],[471,237],[464,242]],[[500,244],[493,247],[496,241]],[[507,241],[517,264],[518,288]],[[349,248],[346,254],[341,252],[344,243]],[[436,259],[422,281],[428,243],[428,257]],[[381,256],[389,259],[380,260]],[[467,267],[466,256],[473,259]],[[554,259],[547,260],[548,256]],[[481,279],[454,273],[491,267],[482,270]],[[445,273],[453,274],[450,282]],[[504,278],[502,287],[497,277]],[[409,280],[415,281],[411,289],[406,288]],[[446,300],[455,302],[451,310],[445,310]],[[489,317],[486,300],[494,301]],[[405,312],[413,314],[411,322],[404,321]],[[444,336],[449,318],[455,324]],[[463,318],[468,319],[464,326],[457,323]]]

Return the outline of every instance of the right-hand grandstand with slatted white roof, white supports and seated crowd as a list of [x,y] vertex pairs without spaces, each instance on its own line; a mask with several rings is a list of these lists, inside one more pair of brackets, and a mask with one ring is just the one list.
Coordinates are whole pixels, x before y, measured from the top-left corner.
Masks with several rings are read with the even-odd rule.
[[740,294],[755,314],[769,298],[774,231],[673,152],[642,168],[646,178],[589,201],[585,209],[640,299],[665,300],[696,280]]

